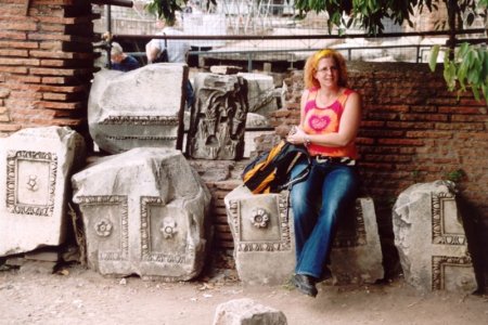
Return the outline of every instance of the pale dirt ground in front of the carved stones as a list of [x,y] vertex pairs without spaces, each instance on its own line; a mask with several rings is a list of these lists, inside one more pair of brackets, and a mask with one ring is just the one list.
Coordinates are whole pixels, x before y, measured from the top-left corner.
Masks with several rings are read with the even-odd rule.
[[320,285],[313,299],[285,285],[244,287],[224,275],[168,284],[106,278],[79,265],[67,271],[0,272],[0,324],[211,324],[219,303],[244,297],[283,311],[291,325],[488,324],[486,297],[422,295],[401,281]]

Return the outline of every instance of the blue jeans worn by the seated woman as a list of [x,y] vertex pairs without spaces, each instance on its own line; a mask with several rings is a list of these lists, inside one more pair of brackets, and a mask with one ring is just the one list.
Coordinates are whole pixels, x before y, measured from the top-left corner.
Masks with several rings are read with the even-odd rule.
[[[307,166],[297,164],[292,178]],[[295,222],[297,274],[320,278],[329,260],[337,218],[355,204],[359,177],[352,166],[312,160],[307,180],[291,192]]]

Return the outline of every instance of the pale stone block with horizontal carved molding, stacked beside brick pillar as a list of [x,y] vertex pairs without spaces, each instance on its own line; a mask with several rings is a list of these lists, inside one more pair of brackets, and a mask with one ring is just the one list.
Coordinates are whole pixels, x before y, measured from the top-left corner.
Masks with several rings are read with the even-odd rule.
[[88,103],[90,134],[117,154],[134,147],[182,148],[188,66],[151,64],[95,74]]

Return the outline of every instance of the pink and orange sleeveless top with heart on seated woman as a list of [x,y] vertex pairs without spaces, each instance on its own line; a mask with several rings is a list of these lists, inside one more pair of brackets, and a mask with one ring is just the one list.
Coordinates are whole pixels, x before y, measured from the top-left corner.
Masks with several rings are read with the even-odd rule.
[[[326,107],[319,107],[316,103],[317,89],[310,89],[309,100],[305,104],[305,116],[303,129],[307,134],[326,134],[337,132],[341,125],[341,117],[344,112],[344,104],[347,96],[354,91],[346,89],[337,100]],[[311,143],[308,146],[311,156],[349,157],[356,159],[358,156],[354,142],[346,146],[324,146]]]

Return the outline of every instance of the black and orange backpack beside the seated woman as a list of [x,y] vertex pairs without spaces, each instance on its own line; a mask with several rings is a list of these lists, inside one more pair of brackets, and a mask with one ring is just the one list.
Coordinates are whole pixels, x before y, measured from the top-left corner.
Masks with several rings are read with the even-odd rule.
[[[303,158],[308,159],[308,167],[291,180],[290,171]],[[241,177],[244,185],[254,194],[279,193],[305,180],[309,171],[310,158],[307,150],[282,140],[271,151],[260,154],[247,165]]]

